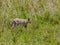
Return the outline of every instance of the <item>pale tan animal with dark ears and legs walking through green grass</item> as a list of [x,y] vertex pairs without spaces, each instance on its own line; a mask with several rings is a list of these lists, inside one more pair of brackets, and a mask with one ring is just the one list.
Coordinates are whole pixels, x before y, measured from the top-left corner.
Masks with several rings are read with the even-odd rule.
[[17,25],[21,24],[21,25],[23,25],[25,28],[27,28],[27,24],[28,24],[28,23],[31,23],[30,18],[28,18],[28,19],[15,18],[15,19],[12,20],[11,27],[12,27],[12,26],[17,26]]

